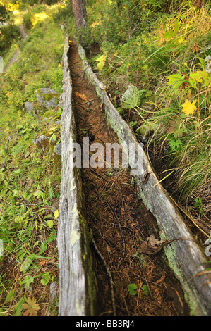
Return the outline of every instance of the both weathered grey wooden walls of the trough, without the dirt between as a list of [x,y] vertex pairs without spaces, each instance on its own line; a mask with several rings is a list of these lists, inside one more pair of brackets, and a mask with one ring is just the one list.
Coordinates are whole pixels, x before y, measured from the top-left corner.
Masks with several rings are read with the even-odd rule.
[[[181,282],[191,314],[211,315],[211,275],[205,271],[205,249],[195,242],[169,194],[164,190],[147,159],[142,144],[138,144],[131,127],[121,118],[109,100],[104,85],[86,61],[85,51],[78,44],[78,53],[88,80],[95,86],[97,95],[105,106],[107,122],[119,137],[123,149],[134,144],[141,168],[133,174],[138,185],[138,194],[152,212],[159,226],[161,239],[185,237],[189,240],[172,242],[165,247],[169,266]],[[71,106],[72,87],[68,68],[68,38],[64,46],[63,113],[61,118],[62,175],[59,211],[59,315],[95,316],[95,277],[89,249],[89,232],[83,216],[83,189],[80,169],[71,168],[70,144],[76,142],[76,125]],[[130,165],[133,168],[134,160]],[[147,182],[143,179],[150,174]],[[155,186],[156,185],[156,186]],[[197,275],[200,273],[200,275]]]

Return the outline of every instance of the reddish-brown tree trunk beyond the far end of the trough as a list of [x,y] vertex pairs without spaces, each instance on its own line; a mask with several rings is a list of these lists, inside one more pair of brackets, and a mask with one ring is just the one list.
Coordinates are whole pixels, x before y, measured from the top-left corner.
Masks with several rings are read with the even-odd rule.
[[88,26],[88,16],[84,0],[72,0],[72,4],[77,30],[84,30]]

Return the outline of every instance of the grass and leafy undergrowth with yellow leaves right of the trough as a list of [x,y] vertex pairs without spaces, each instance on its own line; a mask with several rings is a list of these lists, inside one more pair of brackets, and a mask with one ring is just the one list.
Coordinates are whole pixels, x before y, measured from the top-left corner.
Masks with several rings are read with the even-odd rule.
[[200,2],[90,1],[82,39],[159,180],[209,236],[211,17]]

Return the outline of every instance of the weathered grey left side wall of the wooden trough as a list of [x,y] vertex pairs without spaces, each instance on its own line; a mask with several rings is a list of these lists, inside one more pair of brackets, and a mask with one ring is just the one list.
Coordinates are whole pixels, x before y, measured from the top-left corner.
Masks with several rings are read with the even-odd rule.
[[68,68],[68,38],[64,45],[63,113],[61,115],[61,199],[59,206],[59,316],[92,316],[95,299],[88,231],[83,217],[80,171],[71,166],[76,142],[72,108],[71,76]]

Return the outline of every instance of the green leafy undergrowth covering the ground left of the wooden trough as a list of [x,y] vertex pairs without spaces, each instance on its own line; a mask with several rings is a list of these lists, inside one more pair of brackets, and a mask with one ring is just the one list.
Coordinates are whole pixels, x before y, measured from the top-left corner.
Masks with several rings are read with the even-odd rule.
[[[61,92],[64,35],[51,18],[54,7],[42,6],[41,13],[33,8],[36,20],[29,37],[19,44],[18,61],[0,77],[1,316],[56,315],[58,306],[61,158],[54,153],[54,145],[60,139],[61,109],[38,107],[40,113],[35,116],[25,110],[24,103],[37,101],[35,89],[40,87]],[[49,136],[44,149],[34,142],[40,134]],[[54,291],[49,301],[50,285]]]

